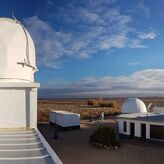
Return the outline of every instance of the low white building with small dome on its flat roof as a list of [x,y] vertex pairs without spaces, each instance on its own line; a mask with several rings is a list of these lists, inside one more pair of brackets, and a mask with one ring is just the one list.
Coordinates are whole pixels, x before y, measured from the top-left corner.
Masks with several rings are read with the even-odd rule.
[[[164,141],[164,108],[148,112],[143,101],[128,98],[118,116],[119,134],[131,138]],[[162,111],[163,109],[163,111]]]

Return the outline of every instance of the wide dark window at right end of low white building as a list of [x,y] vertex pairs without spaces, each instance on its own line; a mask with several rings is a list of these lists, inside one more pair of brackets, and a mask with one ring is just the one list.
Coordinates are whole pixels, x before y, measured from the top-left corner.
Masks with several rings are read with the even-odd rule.
[[150,125],[150,138],[164,140],[164,126]]

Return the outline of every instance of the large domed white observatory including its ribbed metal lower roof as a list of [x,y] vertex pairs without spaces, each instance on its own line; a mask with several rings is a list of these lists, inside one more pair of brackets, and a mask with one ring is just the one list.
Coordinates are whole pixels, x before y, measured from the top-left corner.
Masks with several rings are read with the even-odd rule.
[[37,129],[33,40],[16,19],[0,18],[0,163],[61,164]]

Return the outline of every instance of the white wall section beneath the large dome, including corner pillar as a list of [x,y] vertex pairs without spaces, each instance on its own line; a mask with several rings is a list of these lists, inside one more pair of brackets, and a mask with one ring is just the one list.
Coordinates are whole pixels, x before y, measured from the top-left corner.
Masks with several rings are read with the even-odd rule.
[[33,87],[0,85],[0,128],[37,127],[37,88]]

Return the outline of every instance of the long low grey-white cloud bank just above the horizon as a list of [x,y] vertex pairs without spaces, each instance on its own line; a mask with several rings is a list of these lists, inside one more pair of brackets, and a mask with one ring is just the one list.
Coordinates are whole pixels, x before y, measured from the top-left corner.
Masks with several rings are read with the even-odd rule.
[[164,96],[164,69],[147,69],[129,76],[88,77],[75,83],[54,80],[42,86],[40,98]]

